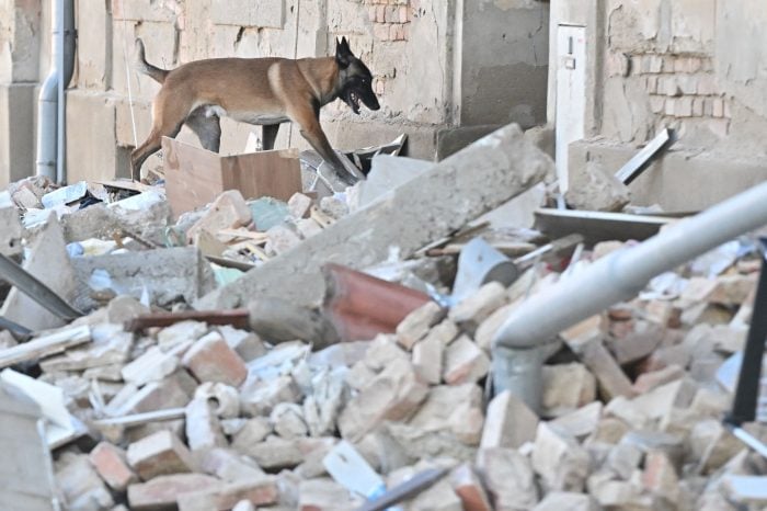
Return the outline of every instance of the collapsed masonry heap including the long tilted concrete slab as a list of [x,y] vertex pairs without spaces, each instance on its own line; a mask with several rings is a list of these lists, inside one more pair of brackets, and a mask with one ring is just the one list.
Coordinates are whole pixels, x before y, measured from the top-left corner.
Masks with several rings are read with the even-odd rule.
[[[90,313],[64,325],[44,309],[30,315],[27,307],[38,306],[20,304],[26,297],[15,288],[5,299],[7,319],[54,330],[21,343],[0,332],[0,366],[13,368],[0,373],[0,415],[22,417],[9,396],[21,399],[25,389],[60,396],[44,410],[58,420],[45,439],[56,446],[53,491],[28,481],[0,486],[3,501],[50,509],[41,502],[59,499],[83,510],[359,509],[374,490],[380,493],[377,480],[392,489],[438,468],[444,475],[410,495],[403,509],[763,509],[767,463],[721,423],[759,270],[745,242],[661,275],[636,299],[561,332],[543,368],[540,413],[507,391],[485,393],[491,340],[529,296],[622,242],[546,252],[513,284],[486,283],[447,307],[424,295],[424,305],[371,340],[328,345],[320,334],[296,330],[290,338],[285,328],[264,328],[254,311],[263,309],[253,307],[244,321],[250,328],[192,320],[136,333],[124,327],[160,307],[233,307],[263,296],[294,306],[288,317],[298,322],[296,315],[317,313],[306,306],[328,293],[325,262],[378,264],[378,274],[389,270],[445,297],[451,277],[440,279],[437,268],[445,273],[450,265],[450,245],[426,252],[438,258],[416,251],[545,179],[550,166],[508,127],[347,217],[332,214],[329,204],[337,201],[312,212],[311,197],[297,196],[286,213],[290,227],[273,229],[295,234],[301,219],[330,220],[321,234],[290,238],[284,253],[276,242],[284,237],[248,228],[252,209],[231,192],[174,226],[185,226],[184,241],[196,248],[160,248],[173,235],[156,188],[68,212],[60,224],[51,217],[32,234],[13,222],[13,209],[2,252],[18,256],[22,240],[32,241],[25,268]],[[19,192],[35,195],[30,186],[12,191],[16,203],[19,193],[32,203]],[[30,212],[32,226],[41,214]],[[201,257],[215,246],[211,257],[227,259],[243,239],[265,242],[268,248],[257,247],[267,262],[233,282]],[[539,237],[528,232],[505,250],[533,251],[531,240]],[[407,261],[387,262],[392,243]],[[764,424],[747,428],[767,440]],[[22,435],[28,443],[15,446],[3,478],[26,474],[35,445],[28,431],[0,431],[3,442]],[[332,461],[341,453],[353,459],[350,444],[364,462],[343,470]],[[374,487],[363,490],[368,473]]]

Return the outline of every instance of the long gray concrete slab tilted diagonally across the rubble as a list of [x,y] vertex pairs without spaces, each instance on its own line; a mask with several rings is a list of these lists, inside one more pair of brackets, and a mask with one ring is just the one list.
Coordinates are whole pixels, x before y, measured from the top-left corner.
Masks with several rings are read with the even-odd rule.
[[409,258],[529,189],[552,166],[517,125],[505,126],[195,306],[237,307],[254,296],[317,305],[324,293],[322,264],[367,268],[386,260],[392,246]]

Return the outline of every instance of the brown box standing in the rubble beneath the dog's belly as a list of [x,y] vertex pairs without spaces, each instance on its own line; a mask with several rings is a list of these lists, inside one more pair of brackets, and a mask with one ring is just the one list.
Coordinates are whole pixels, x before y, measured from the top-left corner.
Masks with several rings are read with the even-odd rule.
[[221,156],[173,138],[162,138],[165,193],[173,216],[213,202],[225,190],[245,200],[287,201],[301,192],[298,149]]

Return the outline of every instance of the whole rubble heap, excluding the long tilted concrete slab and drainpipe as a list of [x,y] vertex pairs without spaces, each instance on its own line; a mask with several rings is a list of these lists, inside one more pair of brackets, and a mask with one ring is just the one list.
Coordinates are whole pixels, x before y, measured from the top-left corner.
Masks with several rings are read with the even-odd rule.
[[[3,408],[16,391],[38,405],[66,509],[767,506],[767,459],[722,422],[762,268],[749,238],[541,339],[538,409],[492,388],[496,333],[531,296],[632,241],[547,245],[518,229],[503,248],[522,257],[503,261],[505,276],[468,279],[458,289],[456,264],[446,275],[422,263],[460,266],[457,256],[482,232],[465,226],[407,261],[371,268],[425,291],[414,298],[423,305],[371,339],[346,339],[342,330],[355,330],[340,328],[350,313],[337,304],[346,315],[329,319],[328,310],[275,302],[285,325],[262,317],[259,328],[252,316],[268,304],[179,318],[360,207],[365,194],[307,192],[283,203],[229,190],[173,220],[161,185],[131,186],[28,180],[0,195],[0,229],[11,240],[0,253],[87,313],[51,314],[15,287],[0,288],[0,316],[10,320],[0,330],[0,419],[21,409]],[[356,305],[375,319],[381,306],[371,300],[400,296],[394,286],[362,286],[357,297],[367,302]],[[147,318],[157,322],[136,326]],[[339,331],[329,333],[330,323]],[[767,441],[760,420],[744,428]],[[14,428],[0,430],[3,445],[18,438]]]

